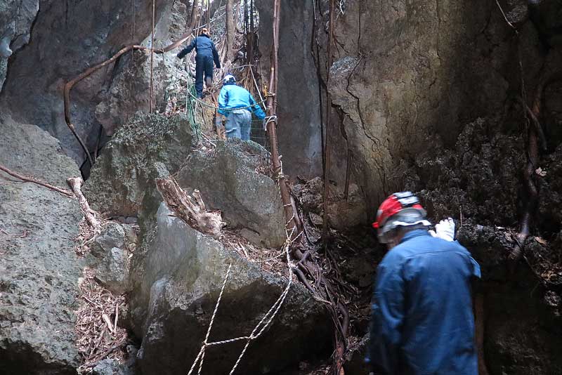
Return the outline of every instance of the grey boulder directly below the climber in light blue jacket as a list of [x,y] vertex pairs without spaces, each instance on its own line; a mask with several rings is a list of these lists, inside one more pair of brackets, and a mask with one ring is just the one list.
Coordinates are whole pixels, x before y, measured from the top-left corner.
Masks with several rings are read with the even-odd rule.
[[219,142],[213,152],[195,151],[177,174],[184,189],[198,189],[230,228],[261,246],[285,242],[283,205],[275,181],[259,173],[268,158],[256,143]]

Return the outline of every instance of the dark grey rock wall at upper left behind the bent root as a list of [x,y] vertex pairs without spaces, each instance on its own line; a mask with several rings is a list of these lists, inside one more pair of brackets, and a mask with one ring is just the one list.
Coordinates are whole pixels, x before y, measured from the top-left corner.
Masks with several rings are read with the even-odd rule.
[[[85,160],[84,151],[65,124],[63,84],[124,46],[150,46],[152,1],[69,1],[61,5],[58,0],[44,0],[40,2],[41,11],[31,32],[39,1],[10,0],[6,6],[5,3],[0,6],[0,15],[6,14],[10,22],[5,24],[1,22],[5,18],[0,18],[0,41],[6,35],[10,40],[16,39],[11,44],[15,53],[9,60],[8,79],[0,101],[16,121],[37,124],[58,138],[65,152],[81,164]],[[182,22],[170,16],[174,3],[156,1],[157,47],[171,37],[171,23]],[[175,8],[185,13],[182,6],[178,4]],[[4,25],[8,25],[8,34]],[[32,42],[27,48],[16,51],[29,39]],[[170,53],[165,59],[171,60],[173,56]],[[164,98],[164,65],[171,65],[166,64],[162,63],[162,57],[155,58],[157,105]],[[0,58],[0,77],[4,77],[3,65],[6,60]],[[115,126],[137,110],[148,112],[148,65],[145,52],[137,51],[134,57],[128,53],[72,90],[72,121],[91,152],[98,147],[100,135],[103,145],[105,131],[111,134]]]

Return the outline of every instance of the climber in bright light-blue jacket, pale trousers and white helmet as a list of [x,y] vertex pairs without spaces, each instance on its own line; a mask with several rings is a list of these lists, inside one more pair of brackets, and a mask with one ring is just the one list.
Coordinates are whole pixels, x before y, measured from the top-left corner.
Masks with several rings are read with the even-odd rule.
[[263,120],[266,114],[245,88],[236,84],[232,74],[223,79],[223,88],[218,95],[218,113],[226,116],[226,138],[250,139],[251,112]]

